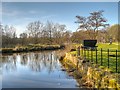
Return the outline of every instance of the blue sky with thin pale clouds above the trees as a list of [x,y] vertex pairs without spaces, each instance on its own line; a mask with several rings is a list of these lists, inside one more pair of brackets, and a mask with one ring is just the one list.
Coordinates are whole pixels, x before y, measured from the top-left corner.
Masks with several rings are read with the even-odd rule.
[[36,20],[65,24],[68,30],[76,31],[76,15],[89,16],[90,12],[98,10],[105,11],[103,15],[109,24],[118,23],[117,2],[3,2],[2,23],[16,27],[18,34]]

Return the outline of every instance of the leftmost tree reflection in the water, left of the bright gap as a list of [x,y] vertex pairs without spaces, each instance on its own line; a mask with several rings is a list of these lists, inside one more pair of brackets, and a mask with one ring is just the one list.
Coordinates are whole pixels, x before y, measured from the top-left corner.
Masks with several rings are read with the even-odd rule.
[[7,71],[16,70],[16,55],[2,57],[2,68]]

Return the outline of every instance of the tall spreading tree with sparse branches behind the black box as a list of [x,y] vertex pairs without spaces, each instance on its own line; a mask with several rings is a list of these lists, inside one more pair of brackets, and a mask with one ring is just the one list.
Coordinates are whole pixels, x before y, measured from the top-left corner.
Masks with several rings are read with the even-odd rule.
[[[79,23],[79,29],[87,30],[91,39],[97,39],[98,30],[106,28],[109,24],[106,24],[107,20],[103,17],[103,10],[90,13],[90,16],[76,16],[78,19],[76,23]],[[93,37],[92,37],[93,36]]]

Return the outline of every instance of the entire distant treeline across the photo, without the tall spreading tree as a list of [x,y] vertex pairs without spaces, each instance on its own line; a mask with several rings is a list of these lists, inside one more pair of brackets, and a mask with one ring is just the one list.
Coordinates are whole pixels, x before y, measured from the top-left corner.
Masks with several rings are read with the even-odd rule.
[[[107,29],[98,30],[98,42],[113,42],[119,40],[120,25],[109,26]],[[84,39],[91,39],[94,32],[92,30],[79,30],[71,32],[67,30],[66,25],[47,21],[43,24],[40,21],[31,22],[27,30],[17,37],[16,29],[13,26],[0,24],[0,33],[2,38],[2,47],[15,47],[16,45],[28,44],[65,44],[65,43],[82,43]]]

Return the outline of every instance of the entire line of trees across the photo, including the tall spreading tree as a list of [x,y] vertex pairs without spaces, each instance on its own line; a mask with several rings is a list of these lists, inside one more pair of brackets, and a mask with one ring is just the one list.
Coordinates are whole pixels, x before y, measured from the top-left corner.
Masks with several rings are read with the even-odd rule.
[[110,26],[103,16],[103,10],[89,13],[88,17],[77,15],[79,24],[75,32],[67,30],[66,25],[47,21],[30,22],[25,28],[26,31],[19,37],[16,35],[16,29],[13,26],[0,24],[0,37],[2,38],[2,47],[15,47],[16,45],[29,44],[69,44],[82,43],[84,39],[97,39],[98,42],[106,43],[110,40],[118,42],[120,39],[119,27],[116,24]]

